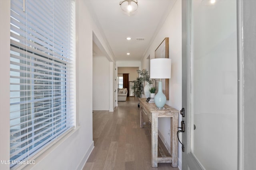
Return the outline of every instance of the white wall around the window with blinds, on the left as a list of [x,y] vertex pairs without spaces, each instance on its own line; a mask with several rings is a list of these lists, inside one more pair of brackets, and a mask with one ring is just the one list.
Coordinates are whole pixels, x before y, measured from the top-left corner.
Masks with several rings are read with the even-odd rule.
[[[10,99],[10,1],[0,1],[0,160],[9,160],[9,99]],[[82,169],[93,149],[92,140],[92,41],[93,32],[113,59],[94,20],[88,12],[86,1],[76,0],[76,129],[62,140],[33,158],[36,164],[24,169]],[[112,60],[114,61],[114,60]],[[112,64],[114,65],[114,64]],[[110,72],[110,71],[108,71]],[[4,74],[3,74],[4,73]],[[0,164],[9,170],[8,164]]]

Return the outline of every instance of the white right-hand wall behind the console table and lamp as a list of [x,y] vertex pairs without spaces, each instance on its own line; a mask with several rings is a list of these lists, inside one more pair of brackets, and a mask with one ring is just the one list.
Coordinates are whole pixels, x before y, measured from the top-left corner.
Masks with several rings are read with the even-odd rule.
[[[153,43],[148,48],[142,59],[142,69],[148,69],[148,56],[154,59],[154,52],[165,37],[169,37],[169,58],[172,59],[172,73],[170,79],[170,100],[166,104],[180,110],[182,107],[182,11],[181,0],[177,0],[172,7],[166,21],[157,33]],[[179,115],[179,124],[181,117]],[[158,131],[162,140],[166,141],[167,147],[170,149],[170,119],[160,118],[158,123]],[[181,169],[182,162],[181,145],[178,148],[178,167]]]

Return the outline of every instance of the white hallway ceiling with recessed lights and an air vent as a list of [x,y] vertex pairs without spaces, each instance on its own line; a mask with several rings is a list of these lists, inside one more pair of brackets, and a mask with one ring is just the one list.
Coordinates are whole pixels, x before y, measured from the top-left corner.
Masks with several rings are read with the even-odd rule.
[[[121,0],[87,0],[115,61],[140,61],[164,23],[176,0],[138,0],[137,13],[125,15]],[[126,37],[131,37],[130,41]],[[144,40],[137,41],[136,38]],[[130,53],[127,55],[126,53]],[[93,43],[93,56],[104,53]]]

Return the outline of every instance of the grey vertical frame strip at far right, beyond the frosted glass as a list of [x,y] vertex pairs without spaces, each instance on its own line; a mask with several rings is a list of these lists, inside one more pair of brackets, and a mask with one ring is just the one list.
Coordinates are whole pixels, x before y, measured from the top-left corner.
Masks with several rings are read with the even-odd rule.
[[255,169],[256,160],[255,8],[255,0],[237,0],[238,170]]

